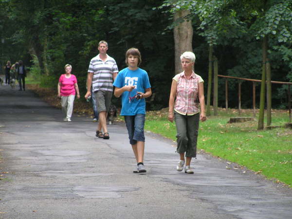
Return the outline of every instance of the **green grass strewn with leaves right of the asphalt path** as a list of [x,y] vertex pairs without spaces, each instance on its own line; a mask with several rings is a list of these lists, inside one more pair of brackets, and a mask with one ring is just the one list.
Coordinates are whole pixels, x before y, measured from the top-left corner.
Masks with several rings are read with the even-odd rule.
[[[198,150],[226,159],[265,175],[268,179],[292,186],[292,129],[284,128],[289,122],[288,112],[273,110],[272,125],[282,128],[257,130],[257,121],[228,124],[236,117],[236,110],[219,111],[200,123]],[[244,110],[241,116],[252,116]],[[257,117],[256,117],[257,118]],[[145,129],[176,140],[175,123],[167,120],[167,109],[149,112]],[[175,144],[175,143],[174,143]]]

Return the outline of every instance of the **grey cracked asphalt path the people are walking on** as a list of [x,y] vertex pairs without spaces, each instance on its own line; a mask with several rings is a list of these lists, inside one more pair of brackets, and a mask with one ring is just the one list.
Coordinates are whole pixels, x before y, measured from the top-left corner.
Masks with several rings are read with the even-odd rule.
[[110,125],[110,140],[95,128],[0,86],[0,219],[292,218],[291,189],[203,154],[195,174],[177,172],[174,143],[150,132],[147,173],[134,174],[125,125]]

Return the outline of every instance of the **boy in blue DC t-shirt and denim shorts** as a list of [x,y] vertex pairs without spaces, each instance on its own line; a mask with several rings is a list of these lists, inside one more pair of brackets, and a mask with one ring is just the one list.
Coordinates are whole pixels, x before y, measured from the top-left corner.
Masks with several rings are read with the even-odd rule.
[[143,164],[145,98],[152,94],[148,74],[138,67],[140,63],[140,51],[136,48],[128,49],[126,53],[128,68],[120,71],[113,83],[115,86],[114,95],[116,97],[122,95],[121,115],[125,116],[130,144],[137,160],[137,170],[134,170],[134,173],[146,172]]

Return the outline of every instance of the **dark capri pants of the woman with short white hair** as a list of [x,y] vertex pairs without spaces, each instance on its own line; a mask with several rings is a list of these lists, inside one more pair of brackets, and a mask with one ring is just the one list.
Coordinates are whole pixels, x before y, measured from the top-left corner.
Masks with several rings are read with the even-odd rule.
[[177,152],[186,152],[186,157],[196,157],[200,113],[182,115],[175,111],[174,120],[177,128]]

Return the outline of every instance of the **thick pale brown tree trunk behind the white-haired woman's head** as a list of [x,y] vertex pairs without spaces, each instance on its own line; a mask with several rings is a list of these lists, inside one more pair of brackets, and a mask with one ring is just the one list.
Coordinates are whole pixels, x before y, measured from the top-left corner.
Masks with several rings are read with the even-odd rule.
[[175,13],[174,21],[184,18],[182,23],[177,24],[174,27],[174,45],[175,45],[175,73],[178,74],[183,71],[180,56],[183,52],[193,52],[192,39],[193,39],[193,27],[191,20],[186,20],[186,16],[189,15],[188,10],[181,10]]

